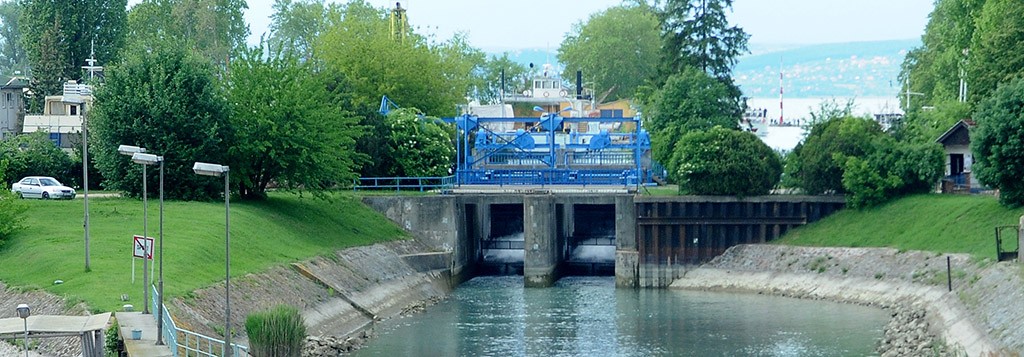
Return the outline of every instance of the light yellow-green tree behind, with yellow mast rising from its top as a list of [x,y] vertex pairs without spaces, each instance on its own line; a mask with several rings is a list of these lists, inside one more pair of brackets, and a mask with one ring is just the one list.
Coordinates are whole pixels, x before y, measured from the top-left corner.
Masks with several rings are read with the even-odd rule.
[[353,105],[360,108],[376,108],[387,95],[404,107],[454,116],[484,61],[463,36],[439,44],[416,34],[391,39],[384,10],[365,1],[349,2],[330,18],[314,53],[327,69],[348,78]]

